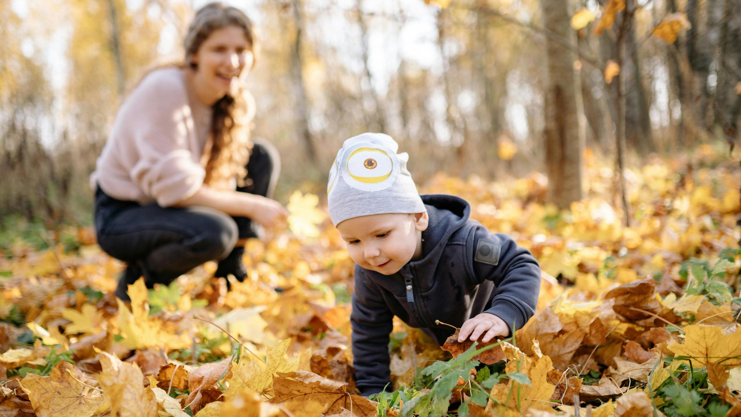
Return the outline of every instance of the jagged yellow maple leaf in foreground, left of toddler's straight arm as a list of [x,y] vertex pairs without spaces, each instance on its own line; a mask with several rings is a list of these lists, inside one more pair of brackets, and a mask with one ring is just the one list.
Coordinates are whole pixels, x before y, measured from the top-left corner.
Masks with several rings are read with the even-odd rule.
[[287,359],[290,339],[285,339],[274,347],[268,347],[268,358],[265,364],[259,361],[250,361],[245,366],[234,371],[229,380],[229,389],[224,393],[227,399],[234,398],[240,391],[249,388],[258,394],[269,393],[273,389],[273,375],[277,372],[293,372],[299,369],[301,355]]

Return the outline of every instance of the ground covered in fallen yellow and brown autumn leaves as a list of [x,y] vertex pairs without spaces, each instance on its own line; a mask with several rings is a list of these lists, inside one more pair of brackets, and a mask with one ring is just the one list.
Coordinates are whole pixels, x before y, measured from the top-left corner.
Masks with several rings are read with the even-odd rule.
[[429,179],[424,191],[467,198],[533,252],[539,306],[488,345],[440,349],[397,321],[394,385],[376,401],[353,382],[353,263],[314,196],[293,194],[290,230],[248,243],[249,275],[228,292],[207,263],[170,286],[140,280],[123,303],[121,265],[85,229],[50,232],[66,248],[14,240],[0,260],[0,416],[737,415],[740,180],[725,159],[705,146],[631,170],[630,226],[590,153],[588,198],[568,211],[545,203],[537,173]]

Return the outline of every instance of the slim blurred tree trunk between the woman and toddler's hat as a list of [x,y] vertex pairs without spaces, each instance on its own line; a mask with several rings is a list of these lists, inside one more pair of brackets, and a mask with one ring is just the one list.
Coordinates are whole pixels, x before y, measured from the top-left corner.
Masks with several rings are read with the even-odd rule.
[[290,72],[293,78],[296,107],[294,108],[293,122],[296,126],[296,137],[302,138],[311,162],[316,162],[316,148],[314,147],[308,123],[308,104],[304,87],[304,59],[301,51],[303,18],[301,0],[293,0],[293,19],[296,21],[296,39],[293,42]]

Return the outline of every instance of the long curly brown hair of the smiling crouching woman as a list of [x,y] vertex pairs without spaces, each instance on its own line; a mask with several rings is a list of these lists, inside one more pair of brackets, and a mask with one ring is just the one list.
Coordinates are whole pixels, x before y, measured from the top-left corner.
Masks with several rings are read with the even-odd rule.
[[[241,27],[250,44],[253,56],[257,55],[257,41],[252,22],[236,7],[221,2],[213,2],[202,7],[193,18],[183,41],[185,47],[185,65],[195,69],[192,56],[198,52],[205,40],[215,30],[234,25]],[[253,61],[253,65],[254,65]],[[212,108],[211,138],[212,145],[206,162],[204,183],[226,186],[233,178],[239,185],[247,176],[247,160],[250,157],[249,123],[254,116],[254,100],[245,87],[244,76],[233,83],[229,93],[219,99]]]

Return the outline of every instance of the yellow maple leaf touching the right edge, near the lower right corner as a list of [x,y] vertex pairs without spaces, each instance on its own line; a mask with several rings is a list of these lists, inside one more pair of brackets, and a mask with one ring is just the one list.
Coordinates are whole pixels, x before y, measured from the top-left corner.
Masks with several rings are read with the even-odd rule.
[[676,356],[689,356],[693,364],[722,363],[728,366],[741,365],[741,329],[723,335],[718,326],[693,324],[685,326],[685,343],[668,346]]

